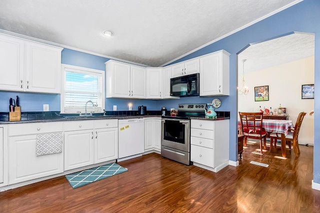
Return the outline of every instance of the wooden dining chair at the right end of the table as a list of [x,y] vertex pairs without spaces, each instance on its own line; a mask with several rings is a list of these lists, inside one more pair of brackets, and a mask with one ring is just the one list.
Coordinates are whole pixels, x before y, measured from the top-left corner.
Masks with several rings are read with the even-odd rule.
[[[294,129],[289,128],[288,134],[285,136],[285,141],[291,150],[291,143],[293,142],[293,150],[296,157],[300,155],[299,143],[298,143],[298,136],[301,128],[301,124],[303,121],[304,116],[306,115],[305,112],[300,112],[298,118],[296,119]],[[274,143],[274,148],[276,148],[276,141],[281,140],[281,135],[279,133],[270,133],[270,151]]]

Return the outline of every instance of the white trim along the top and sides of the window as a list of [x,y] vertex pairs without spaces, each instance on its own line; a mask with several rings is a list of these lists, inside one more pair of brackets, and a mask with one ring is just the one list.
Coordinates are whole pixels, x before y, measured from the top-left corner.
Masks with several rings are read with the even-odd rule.
[[61,64],[61,95],[60,95],[60,114],[64,113],[64,84],[65,84],[65,69],[73,69],[73,70],[80,70],[85,72],[91,72],[91,73],[97,73],[101,74],[101,99],[102,99],[102,105],[101,110],[105,109],[105,71],[99,70],[99,69],[90,69],[86,67],[80,67],[80,66],[73,66],[68,64]]

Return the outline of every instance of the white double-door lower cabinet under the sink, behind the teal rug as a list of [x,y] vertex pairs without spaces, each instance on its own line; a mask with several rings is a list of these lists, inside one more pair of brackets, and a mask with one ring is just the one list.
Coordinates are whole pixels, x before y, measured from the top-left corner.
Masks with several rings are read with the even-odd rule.
[[64,171],[117,159],[117,120],[64,124]]

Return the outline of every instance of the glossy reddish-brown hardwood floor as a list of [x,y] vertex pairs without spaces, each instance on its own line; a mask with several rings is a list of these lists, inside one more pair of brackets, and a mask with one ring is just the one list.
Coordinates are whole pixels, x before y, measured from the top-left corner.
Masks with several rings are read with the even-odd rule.
[[311,189],[313,147],[300,145],[298,158],[293,150],[282,158],[280,147],[263,155],[258,149],[248,143],[240,165],[218,173],[152,153],[119,162],[128,172],[76,189],[62,176],[1,192],[0,212],[320,212],[320,191]]

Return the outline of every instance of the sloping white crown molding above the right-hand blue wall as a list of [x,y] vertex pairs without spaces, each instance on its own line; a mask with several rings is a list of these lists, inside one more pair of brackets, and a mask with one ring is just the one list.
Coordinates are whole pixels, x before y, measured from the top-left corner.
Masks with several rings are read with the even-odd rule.
[[166,63],[160,65],[159,67],[166,66],[166,65],[168,65],[168,64],[170,64],[170,63],[172,63],[172,62],[174,62],[174,61],[176,61],[176,60],[178,60],[178,59],[180,59],[180,58],[183,58],[184,56],[187,56],[187,55],[189,55],[189,54],[191,54],[191,53],[193,53],[193,52],[195,52],[195,51],[197,51],[197,50],[199,50],[199,49],[202,49],[202,48],[205,47],[205,46],[208,46],[208,45],[210,45],[210,44],[212,44],[212,43],[214,43],[214,42],[216,42],[216,41],[218,41],[218,40],[221,40],[221,39],[223,39],[223,38],[225,38],[225,37],[227,37],[227,36],[229,36],[229,35],[232,35],[233,33],[236,33],[236,32],[238,32],[238,31],[240,31],[240,30],[242,30],[242,29],[244,29],[244,28],[246,28],[246,27],[248,27],[248,26],[251,26],[251,25],[259,22],[260,20],[263,20],[263,19],[265,19],[265,18],[267,18],[267,17],[270,17],[271,15],[274,15],[275,13],[278,13],[278,12],[280,12],[280,11],[282,11],[282,10],[284,10],[284,9],[286,9],[286,8],[294,5],[294,4],[297,4],[297,3],[301,2],[301,1],[302,1],[302,0],[293,1],[293,2],[291,2],[291,3],[289,3],[289,4],[287,4],[287,5],[279,8],[279,9],[274,10],[273,12],[270,12],[269,14],[266,14],[266,15],[264,15],[264,16],[256,19],[256,20],[254,20],[254,21],[251,21],[250,23],[247,23],[247,24],[245,24],[245,25],[243,25],[243,26],[241,26],[241,27],[239,27],[239,28],[237,28],[237,29],[235,29],[235,30],[227,33],[227,34],[222,35],[221,37],[218,37],[218,38],[216,38],[216,39],[214,39],[214,40],[212,40],[212,41],[210,41],[210,42],[208,42],[208,43],[206,43],[206,44],[203,44],[202,46],[199,46],[199,47],[197,47],[197,48],[195,48],[195,49],[193,49],[193,50],[191,50],[191,51],[189,51],[189,52],[187,52],[187,53],[185,53],[185,54],[183,54],[183,55],[181,55],[181,56],[179,56],[179,57],[177,57],[177,58],[175,58],[175,59],[173,59],[173,60],[170,60],[169,62],[166,62]]

